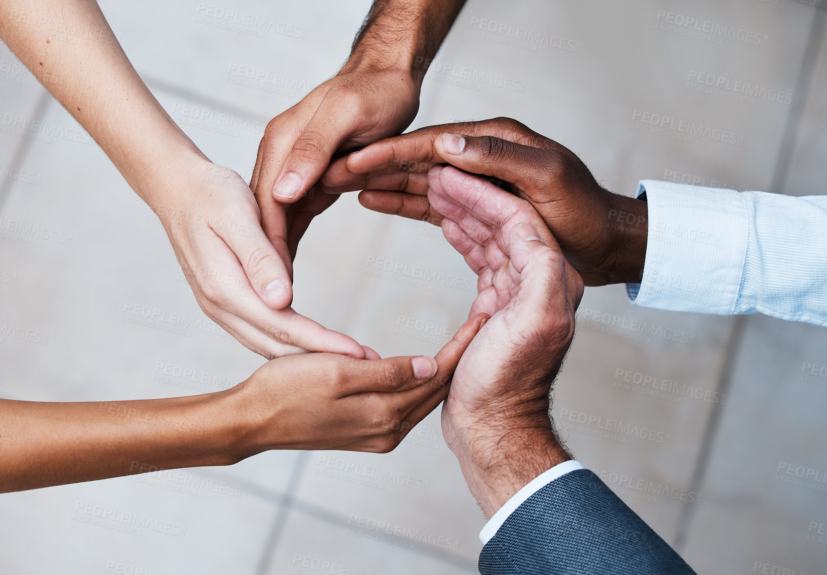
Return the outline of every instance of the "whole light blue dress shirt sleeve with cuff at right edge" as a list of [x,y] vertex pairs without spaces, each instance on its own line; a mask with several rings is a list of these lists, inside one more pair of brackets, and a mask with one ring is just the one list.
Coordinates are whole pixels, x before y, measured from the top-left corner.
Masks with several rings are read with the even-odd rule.
[[643,180],[648,203],[637,305],[767,314],[827,326],[827,196],[796,198]]

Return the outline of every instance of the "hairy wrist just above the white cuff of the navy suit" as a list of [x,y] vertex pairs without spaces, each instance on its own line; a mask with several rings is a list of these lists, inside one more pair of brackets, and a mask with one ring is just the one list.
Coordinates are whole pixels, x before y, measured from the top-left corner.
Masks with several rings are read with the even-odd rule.
[[466,429],[452,441],[471,494],[489,519],[535,477],[571,459],[550,421],[548,425],[511,421],[508,426],[486,425],[487,431],[481,433]]

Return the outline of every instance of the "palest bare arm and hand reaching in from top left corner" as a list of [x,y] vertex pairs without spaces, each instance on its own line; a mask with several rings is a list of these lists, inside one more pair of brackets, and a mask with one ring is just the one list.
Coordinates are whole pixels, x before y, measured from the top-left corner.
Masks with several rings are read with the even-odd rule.
[[250,187],[209,161],[160,106],[96,2],[0,0],[0,37],[158,215],[204,313],[268,358],[365,357],[353,339],[287,307],[292,261],[284,242],[265,237]]

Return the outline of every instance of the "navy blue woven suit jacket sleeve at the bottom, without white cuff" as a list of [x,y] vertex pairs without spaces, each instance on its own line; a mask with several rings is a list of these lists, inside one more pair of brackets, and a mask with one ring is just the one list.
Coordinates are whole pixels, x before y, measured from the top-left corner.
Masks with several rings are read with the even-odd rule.
[[587,469],[523,501],[480,553],[482,575],[695,573]]

